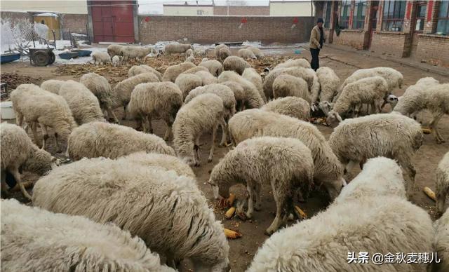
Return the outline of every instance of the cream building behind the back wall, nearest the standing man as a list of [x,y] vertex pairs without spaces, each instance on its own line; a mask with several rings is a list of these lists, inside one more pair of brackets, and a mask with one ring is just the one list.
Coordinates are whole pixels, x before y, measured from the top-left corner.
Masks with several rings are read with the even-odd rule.
[[310,17],[315,15],[311,1],[269,1],[270,16]]

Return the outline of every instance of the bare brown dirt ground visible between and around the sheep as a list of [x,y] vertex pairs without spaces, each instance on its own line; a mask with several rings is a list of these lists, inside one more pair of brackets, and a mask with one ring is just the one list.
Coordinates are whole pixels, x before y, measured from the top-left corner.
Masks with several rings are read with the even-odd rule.
[[[282,55],[284,56],[297,56],[294,55],[294,49],[285,49],[281,50]],[[279,52],[279,50],[276,50]],[[267,52],[269,53],[269,52]],[[275,57],[275,56],[271,56]],[[304,50],[302,55],[299,57],[307,57],[310,58],[310,55],[307,50]],[[263,62],[262,62],[263,64]],[[396,90],[394,92],[395,95],[402,95],[403,91],[410,85],[413,85],[418,79],[425,76],[433,76],[435,79],[443,83],[449,82],[448,76],[440,76],[438,74],[431,74],[431,72],[424,72],[421,69],[417,69],[414,67],[404,66],[402,64],[398,64],[396,62],[391,62],[389,60],[381,60],[377,57],[369,57],[367,55],[363,55],[361,53],[351,53],[342,50],[338,50],[335,48],[324,48],[321,52],[321,66],[328,66],[335,70],[340,79],[344,81],[352,72],[359,68],[370,68],[370,67],[392,67],[402,72],[404,76],[404,84],[401,90]],[[163,63],[164,66],[167,65],[166,62]],[[155,67],[156,69],[158,67]],[[4,64],[1,65],[1,73],[4,72],[11,73],[17,72],[18,74],[26,75],[26,76],[39,76],[43,80],[46,79],[74,79],[78,80],[79,75],[72,76],[68,75],[57,75],[56,70],[58,69],[57,65],[53,65],[52,67],[30,67],[29,62],[15,62],[12,64]],[[60,73],[58,73],[60,74]],[[101,74],[106,76],[112,83],[119,81],[119,79],[124,79],[123,73],[109,73],[107,70],[104,70]],[[123,75],[122,77],[120,75]],[[387,106],[385,111],[389,111],[389,107]],[[422,123],[425,125],[429,123],[430,117],[428,114],[421,114]],[[135,123],[133,121],[126,121],[126,125],[134,126]],[[154,132],[156,135],[163,136],[166,125],[161,121],[155,121],[153,125]],[[329,137],[332,132],[332,128],[325,127],[323,125],[318,125],[319,130],[323,132],[326,138]],[[416,183],[415,183],[415,191],[411,200],[416,205],[424,208],[429,212],[429,214],[435,218],[435,208],[434,202],[427,198],[427,196],[422,193],[422,188],[424,186],[429,186],[431,189],[435,189],[434,182],[434,170],[438,165],[438,162],[441,160],[443,155],[449,151],[449,116],[444,116],[439,125],[439,130],[441,131],[441,135],[445,138],[446,142],[443,144],[436,144],[434,137],[432,135],[424,136],[424,144],[417,151],[417,154],[413,158],[413,163],[415,165],[415,169],[417,171],[416,175]],[[197,177],[198,184],[201,190],[205,193],[206,198],[208,198],[210,205],[215,207],[216,200],[213,199],[213,193],[210,189],[210,186],[206,184],[206,180],[208,179],[208,172],[213,169],[213,166],[217,164],[217,162],[225,156],[227,151],[231,147],[217,147],[215,149],[215,155],[212,163],[207,163],[208,150],[210,149],[210,139],[211,136],[206,134],[201,138],[201,167],[194,168],[194,172]],[[220,139],[220,137],[217,137]],[[49,144],[53,144],[53,141],[48,140]],[[172,143],[169,142],[171,145]],[[52,150],[53,147],[50,147]],[[58,154],[62,156],[62,154]],[[347,177],[347,181],[354,177],[359,170],[354,170]],[[26,180],[35,181],[38,177],[36,175],[26,174]],[[237,198],[244,197],[244,187],[242,185],[232,187],[231,191],[236,193]],[[275,204],[271,194],[270,186],[265,185],[262,190],[262,210],[260,212],[255,212],[253,219],[248,220],[246,222],[242,222],[239,219],[225,219],[224,210],[215,209],[215,215],[217,219],[222,220],[225,227],[229,229],[239,230],[243,237],[236,240],[229,240],[230,252],[229,252],[229,260],[231,261],[232,271],[244,271],[250,261],[252,261],[257,248],[264,243],[264,240],[267,239],[267,236],[264,235],[264,230],[267,229],[269,224],[271,224],[274,219],[274,211]],[[19,198],[23,200],[20,196],[20,193],[14,193],[13,196],[15,198]],[[323,196],[323,193],[320,191],[315,191],[311,193],[311,196],[307,203],[300,204],[300,207],[304,212],[307,213],[309,217],[315,215],[320,210],[323,210],[328,205],[328,200]],[[356,210],[354,210],[354,215],[356,215]],[[293,224],[293,222],[290,222]],[[186,266],[184,268],[187,268]]]

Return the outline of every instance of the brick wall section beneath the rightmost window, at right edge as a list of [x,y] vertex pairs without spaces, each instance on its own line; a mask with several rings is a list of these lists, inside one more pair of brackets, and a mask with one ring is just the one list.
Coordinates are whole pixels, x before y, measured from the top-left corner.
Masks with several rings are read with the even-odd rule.
[[421,34],[416,58],[430,64],[449,67],[449,36]]

